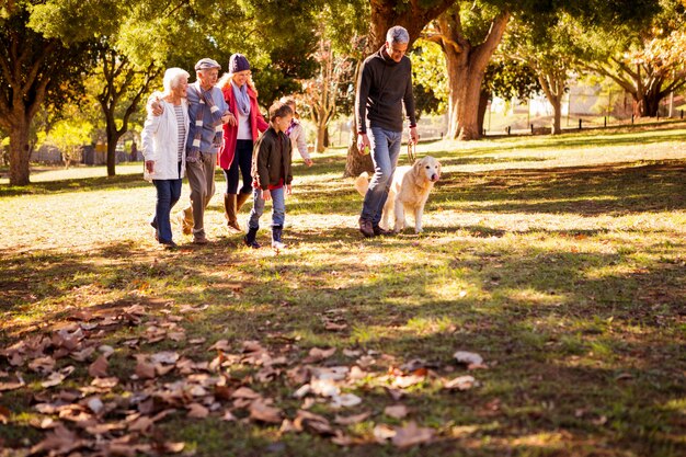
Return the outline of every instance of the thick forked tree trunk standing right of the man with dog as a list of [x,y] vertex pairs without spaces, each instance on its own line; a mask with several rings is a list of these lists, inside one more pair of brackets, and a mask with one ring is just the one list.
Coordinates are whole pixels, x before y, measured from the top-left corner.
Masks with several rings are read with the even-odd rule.
[[479,123],[481,82],[485,67],[498,48],[508,21],[510,12],[501,11],[493,19],[483,43],[477,46],[465,37],[457,7],[443,13],[436,21],[441,35],[433,37],[432,41],[443,48],[448,67],[447,138],[459,140],[481,138],[482,123]]

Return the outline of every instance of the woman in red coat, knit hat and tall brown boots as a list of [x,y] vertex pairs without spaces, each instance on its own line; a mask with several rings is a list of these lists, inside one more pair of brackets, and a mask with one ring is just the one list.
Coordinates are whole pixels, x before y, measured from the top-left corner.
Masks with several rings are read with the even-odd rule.
[[[258,105],[258,93],[250,79],[250,64],[242,54],[233,54],[229,59],[229,72],[217,84],[224,99],[233,113],[236,122],[224,125],[224,146],[217,162],[224,170],[227,191],[224,194],[225,217],[229,230],[241,231],[237,214],[252,195],[250,167],[253,142],[270,125],[264,121]],[[240,173],[239,173],[240,172]],[[239,176],[240,174],[240,176]],[[239,178],[243,184],[238,187]]]

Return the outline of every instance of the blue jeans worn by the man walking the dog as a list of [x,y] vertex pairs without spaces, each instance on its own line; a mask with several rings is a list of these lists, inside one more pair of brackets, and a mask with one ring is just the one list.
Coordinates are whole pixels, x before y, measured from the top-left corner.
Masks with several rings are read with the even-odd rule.
[[369,181],[359,218],[370,220],[371,225],[378,226],[393,181],[396,165],[398,165],[402,132],[391,132],[380,127],[370,127],[369,130],[371,132],[369,142],[371,144],[374,176]]

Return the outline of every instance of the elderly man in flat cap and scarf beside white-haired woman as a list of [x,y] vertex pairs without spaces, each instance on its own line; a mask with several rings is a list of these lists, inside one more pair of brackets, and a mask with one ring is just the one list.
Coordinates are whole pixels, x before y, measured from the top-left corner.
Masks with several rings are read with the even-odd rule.
[[[197,80],[188,84],[188,139],[186,141],[186,175],[191,185],[191,206],[179,214],[183,232],[193,232],[193,242],[206,244],[205,208],[215,194],[215,164],[221,146],[221,126],[236,122],[224,100],[221,90],[215,84],[221,66],[216,60],[204,58],[195,64]],[[155,114],[159,106],[152,104]]]

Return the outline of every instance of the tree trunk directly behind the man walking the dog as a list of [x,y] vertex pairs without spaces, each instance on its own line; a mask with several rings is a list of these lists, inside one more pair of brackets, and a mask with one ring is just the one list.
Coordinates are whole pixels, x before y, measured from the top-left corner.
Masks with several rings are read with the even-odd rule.
[[[412,46],[424,26],[449,8],[454,1],[442,0],[428,8],[422,7],[422,2],[412,1],[400,9],[396,0],[370,0],[371,19],[367,33],[365,57],[377,52],[384,45],[386,32],[393,25],[401,25],[408,30],[410,34],[409,45]],[[355,70],[355,89],[357,89],[359,66],[361,62]],[[354,115],[356,116],[356,113]],[[357,125],[354,125],[351,142],[347,147],[347,161],[343,176],[357,176],[363,171],[374,171],[374,165],[369,155],[361,156],[357,150]]]

